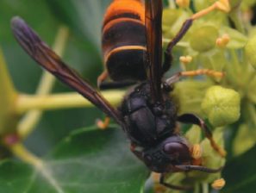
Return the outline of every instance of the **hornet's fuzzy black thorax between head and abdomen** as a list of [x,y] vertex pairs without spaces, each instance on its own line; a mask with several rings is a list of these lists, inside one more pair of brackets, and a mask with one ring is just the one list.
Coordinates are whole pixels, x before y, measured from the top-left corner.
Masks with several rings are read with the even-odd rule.
[[164,105],[155,108],[150,84],[141,83],[125,97],[121,112],[129,138],[139,146],[153,146],[175,131],[177,109],[168,92],[164,94]]

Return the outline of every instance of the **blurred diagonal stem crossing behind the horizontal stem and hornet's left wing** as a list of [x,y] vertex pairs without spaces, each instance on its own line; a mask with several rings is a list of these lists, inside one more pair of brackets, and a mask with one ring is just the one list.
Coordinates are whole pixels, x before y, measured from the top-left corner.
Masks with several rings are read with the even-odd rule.
[[[66,47],[66,41],[68,39],[68,28],[60,27],[56,36],[56,40],[53,45],[53,50],[61,56],[64,53],[64,49]],[[53,89],[55,78],[48,72],[43,72],[41,77],[40,84],[36,90],[36,96],[44,96],[47,95]],[[41,110],[31,110],[25,115],[22,121],[19,122],[17,126],[17,130],[21,136],[21,138],[25,138],[30,134],[35,125],[40,121],[42,112]]]

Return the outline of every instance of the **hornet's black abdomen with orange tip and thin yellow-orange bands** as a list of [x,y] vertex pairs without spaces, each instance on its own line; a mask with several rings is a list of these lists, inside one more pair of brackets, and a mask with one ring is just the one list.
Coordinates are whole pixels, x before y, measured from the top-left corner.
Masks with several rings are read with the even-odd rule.
[[103,58],[114,81],[145,80],[145,7],[140,0],[114,0],[103,20]]

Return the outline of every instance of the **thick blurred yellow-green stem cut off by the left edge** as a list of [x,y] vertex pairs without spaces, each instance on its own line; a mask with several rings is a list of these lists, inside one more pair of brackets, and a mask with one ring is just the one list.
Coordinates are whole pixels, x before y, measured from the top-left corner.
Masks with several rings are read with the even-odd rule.
[[15,130],[18,121],[14,115],[17,93],[6,66],[0,49],[0,134]]

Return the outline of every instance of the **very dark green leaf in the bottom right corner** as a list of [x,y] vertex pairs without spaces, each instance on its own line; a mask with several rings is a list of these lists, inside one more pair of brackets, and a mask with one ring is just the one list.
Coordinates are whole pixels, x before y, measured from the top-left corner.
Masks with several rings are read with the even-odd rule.
[[[240,141],[241,143],[243,141]],[[240,157],[232,159],[224,167],[223,177],[226,180],[226,193],[254,193],[256,184],[255,160],[256,146],[242,154]]]

